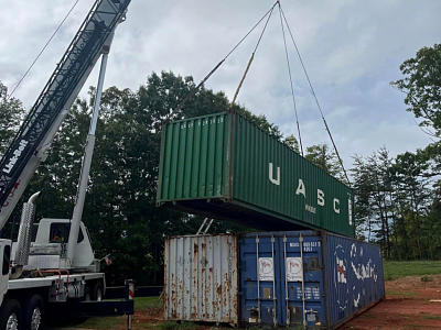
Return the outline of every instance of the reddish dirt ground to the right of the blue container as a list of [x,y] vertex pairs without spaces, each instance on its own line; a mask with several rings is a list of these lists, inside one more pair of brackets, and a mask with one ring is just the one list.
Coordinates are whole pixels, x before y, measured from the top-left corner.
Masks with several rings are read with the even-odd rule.
[[441,329],[441,275],[386,282],[386,299],[342,329]]

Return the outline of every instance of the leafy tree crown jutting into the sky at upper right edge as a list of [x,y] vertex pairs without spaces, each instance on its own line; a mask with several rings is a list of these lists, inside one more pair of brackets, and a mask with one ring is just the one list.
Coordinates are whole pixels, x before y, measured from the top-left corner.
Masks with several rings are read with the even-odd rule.
[[441,44],[422,47],[415,58],[400,66],[405,78],[391,85],[406,94],[405,103],[421,127],[432,128],[434,136],[441,138]]

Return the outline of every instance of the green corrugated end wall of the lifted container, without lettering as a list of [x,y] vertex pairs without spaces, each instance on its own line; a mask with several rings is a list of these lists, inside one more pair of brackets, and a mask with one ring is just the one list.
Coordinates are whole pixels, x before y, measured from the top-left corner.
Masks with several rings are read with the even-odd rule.
[[229,117],[211,114],[169,123],[161,144],[158,201],[229,194]]

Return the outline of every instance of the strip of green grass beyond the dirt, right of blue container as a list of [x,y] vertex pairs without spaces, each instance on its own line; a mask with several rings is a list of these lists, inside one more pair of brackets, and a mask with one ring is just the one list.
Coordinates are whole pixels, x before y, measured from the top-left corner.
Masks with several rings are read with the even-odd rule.
[[441,261],[385,261],[385,279],[397,279],[405,276],[441,274]]

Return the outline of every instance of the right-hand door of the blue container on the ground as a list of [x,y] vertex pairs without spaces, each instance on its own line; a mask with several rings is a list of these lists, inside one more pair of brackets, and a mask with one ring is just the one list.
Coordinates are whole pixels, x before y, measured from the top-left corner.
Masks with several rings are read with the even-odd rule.
[[301,234],[281,237],[279,250],[283,324],[326,324],[321,239]]

